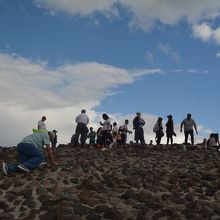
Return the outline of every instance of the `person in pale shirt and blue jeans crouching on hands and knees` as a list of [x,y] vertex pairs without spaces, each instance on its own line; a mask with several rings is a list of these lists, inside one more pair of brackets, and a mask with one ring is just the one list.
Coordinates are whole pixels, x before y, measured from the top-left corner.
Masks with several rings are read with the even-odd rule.
[[32,170],[38,168],[41,162],[44,160],[44,145],[46,146],[50,163],[53,165],[57,165],[50,148],[48,133],[37,132],[28,135],[17,145],[19,164],[7,164],[5,162],[2,162],[2,169],[4,173],[7,175],[8,173],[17,172],[18,170],[31,172]]

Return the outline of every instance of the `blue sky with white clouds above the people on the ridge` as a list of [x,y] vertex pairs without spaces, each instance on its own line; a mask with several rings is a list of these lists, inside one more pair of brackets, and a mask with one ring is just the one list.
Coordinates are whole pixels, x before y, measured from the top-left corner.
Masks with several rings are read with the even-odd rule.
[[147,142],[168,114],[178,131],[192,113],[197,142],[219,133],[219,9],[218,0],[0,0],[0,145],[42,115],[68,142],[82,108],[95,128],[103,112],[119,124],[142,112]]

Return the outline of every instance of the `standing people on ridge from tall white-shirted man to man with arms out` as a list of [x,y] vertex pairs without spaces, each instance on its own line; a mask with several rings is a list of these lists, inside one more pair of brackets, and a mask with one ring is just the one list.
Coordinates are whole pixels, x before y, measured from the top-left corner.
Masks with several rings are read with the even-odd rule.
[[[180,132],[182,132],[184,128],[184,135],[185,135],[185,143],[188,142],[188,137],[191,137],[191,144],[194,144],[194,129],[196,133],[197,126],[195,121],[192,119],[191,114],[187,114],[187,118],[185,118],[180,126]],[[111,147],[114,143],[118,144],[126,144],[127,142],[127,134],[131,134],[132,131],[128,129],[129,120],[126,119],[124,124],[117,127],[117,123],[114,122],[111,124],[111,119],[107,114],[102,115],[103,122],[100,122],[102,127],[99,127],[97,132],[93,130],[92,127],[88,129],[89,124],[89,117],[86,114],[86,110],[83,109],[81,114],[79,114],[75,122],[77,123],[75,134],[72,136],[71,143],[77,145],[80,143],[83,145],[86,143],[86,139],[89,138],[89,144],[97,144],[98,146],[109,146]],[[174,131],[174,123],[173,123],[173,116],[168,115],[168,120],[166,123],[166,136],[167,136],[167,144],[173,144],[173,136],[176,136]],[[163,131],[163,118],[159,117],[156,124],[154,125],[153,131],[156,134],[155,140],[157,145],[161,143],[161,139],[164,136]],[[145,125],[145,120],[142,118],[141,113],[137,112],[135,118],[133,119],[133,130],[134,132],[134,140],[136,143],[145,144],[144,139],[144,129],[143,126]]]

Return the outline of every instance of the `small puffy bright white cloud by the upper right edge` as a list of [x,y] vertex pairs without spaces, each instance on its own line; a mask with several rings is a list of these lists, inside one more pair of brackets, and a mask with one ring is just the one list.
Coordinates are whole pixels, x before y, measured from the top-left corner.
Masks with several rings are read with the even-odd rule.
[[193,25],[193,36],[204,42],[214,41],[220,45],[220,28],[212,28],[208,23]]

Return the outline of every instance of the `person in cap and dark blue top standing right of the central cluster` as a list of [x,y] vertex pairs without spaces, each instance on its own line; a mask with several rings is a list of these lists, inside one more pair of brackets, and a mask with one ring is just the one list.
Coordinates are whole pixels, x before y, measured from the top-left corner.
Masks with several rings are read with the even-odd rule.
[[136,117],[133,120],[133,129],[135,130],[134,140],[136,141],[136,144],[138,144],[139,140],[141,144],[145,144],[144,129],[143,129],[144,125],[145,125],[145,121],[141,117],[141,113],[137,112]]

